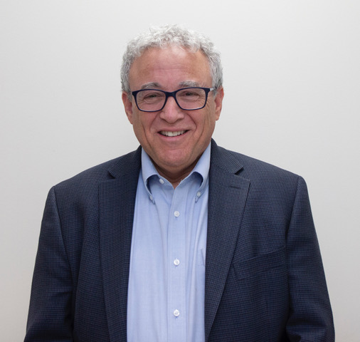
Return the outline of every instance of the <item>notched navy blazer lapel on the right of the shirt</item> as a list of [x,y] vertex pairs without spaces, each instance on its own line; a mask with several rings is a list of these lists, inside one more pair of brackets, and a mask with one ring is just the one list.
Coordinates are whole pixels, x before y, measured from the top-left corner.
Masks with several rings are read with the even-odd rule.
[[250,180],[237,175],[239,160],[212,141],[205,274],[205,341],[230,269]]

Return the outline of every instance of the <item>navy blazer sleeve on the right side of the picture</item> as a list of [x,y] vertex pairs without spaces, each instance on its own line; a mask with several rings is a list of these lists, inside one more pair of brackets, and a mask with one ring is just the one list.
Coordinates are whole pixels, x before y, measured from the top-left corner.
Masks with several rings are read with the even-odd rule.
[[305,181],[300,177],[287,231],[290,341],[334,341],[334,323]]

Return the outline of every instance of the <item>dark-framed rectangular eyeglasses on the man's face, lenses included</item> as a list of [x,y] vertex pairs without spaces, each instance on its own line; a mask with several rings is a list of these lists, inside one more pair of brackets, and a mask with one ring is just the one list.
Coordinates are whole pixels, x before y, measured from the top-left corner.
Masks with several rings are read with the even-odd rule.
[[214,88],[189,87],[172,92],[159,89],[142,89],[132,92],[137,108],[142,112],[158,112],[162,110],[168,98],[174,98],[182,110],[204,108],[208,93]]

